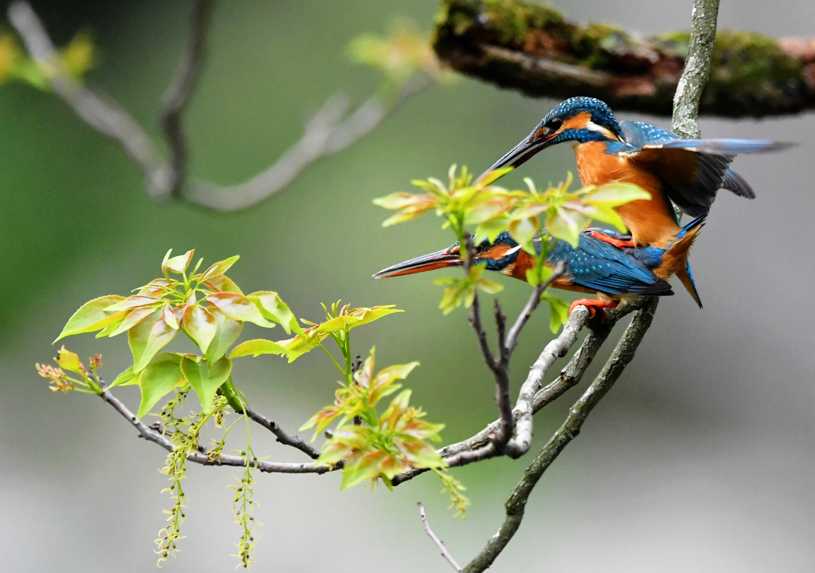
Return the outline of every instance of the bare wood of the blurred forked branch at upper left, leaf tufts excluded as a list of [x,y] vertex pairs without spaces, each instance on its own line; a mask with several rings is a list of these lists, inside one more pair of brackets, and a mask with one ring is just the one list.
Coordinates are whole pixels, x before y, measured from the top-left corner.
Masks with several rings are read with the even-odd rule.
[[429,74],[416,73],[394,95],[373,95],[348,114],[346,98],[333,95],[306,125],[302,138],[267,170],[236,185],[221,186],[185,176],[187,144],[181,116],[205,55],[205,36],[214,0],[196,0],[192,15],[192,39],[178,67],[173,85],[165,93],[161,125],[170,146],[171,159],[161,156],[150,136],[124,108],[104,99],[71,76],[59,60],[51,38],[29,2],[18,0],[8,16],[29,55],[51,79],[51,86],[75,113],[93,129],[116,140],[142,170],[148,194],[156,199],[180,196],[186,201],[217,211],[248,209],[289,185],[302,170],[322,157],[333,155],[370,133],[390,112],[430,85]]

